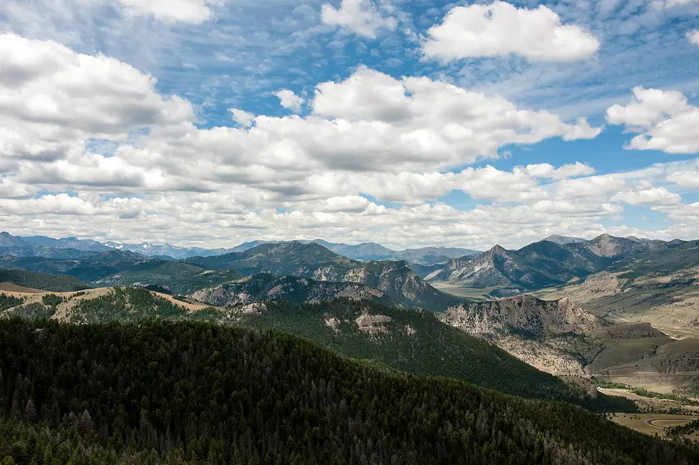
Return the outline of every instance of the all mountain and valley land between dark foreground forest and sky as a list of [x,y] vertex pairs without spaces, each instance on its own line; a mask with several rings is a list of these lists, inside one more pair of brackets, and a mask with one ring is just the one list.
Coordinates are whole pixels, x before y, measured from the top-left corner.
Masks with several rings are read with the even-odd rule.
[[[114,249],[49,247],[41,257],[11,249],[0,266],[29,271],[0,274],[30,285],[51,282],[52,292],[9,284],[0,292],[22,300],[3,309],[7,317],[277,329],[349,357],[524,397],[607,412],[698,413],[691,400],[699,396],[693,245],[569,240],[450,257],[425,280],[412,268],[441,265],[354,260],[320,241],[250,242],[183,260]],[[370,258],[382,249],[359,250]],[[666,255],[675,255],[671,267]],[[47,304],[49,295],[61,302]],[[486,375],[498,366],[505,376]],[[615,383],[629,388],[605,387]],[[632,387],[658,394],[638,395]]]

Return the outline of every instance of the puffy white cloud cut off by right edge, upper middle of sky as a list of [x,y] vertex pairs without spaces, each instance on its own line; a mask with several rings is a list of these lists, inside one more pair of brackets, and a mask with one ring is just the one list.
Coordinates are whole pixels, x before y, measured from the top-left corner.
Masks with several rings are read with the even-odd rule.
[[699,152],[699,107],[680,92],[636,87],[631,103],[608,108],[607,121],[640,133],[627,149]]

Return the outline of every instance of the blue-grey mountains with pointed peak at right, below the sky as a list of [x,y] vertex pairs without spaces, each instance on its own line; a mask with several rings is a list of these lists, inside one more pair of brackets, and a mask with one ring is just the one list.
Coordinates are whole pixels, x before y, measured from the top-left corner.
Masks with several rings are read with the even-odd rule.
[[593,240],[565,244],[543,240],[519,250],[505,250],[496,245],[475,257],[451,260],[426,280],[466,287],[501,287],[513,292],[537,290],[565,285],[602,270],[634,270],[643,266],[644,260],[673,257],[673,262],[687,261],[693,256],[683,249],[683,243],[601,235]]

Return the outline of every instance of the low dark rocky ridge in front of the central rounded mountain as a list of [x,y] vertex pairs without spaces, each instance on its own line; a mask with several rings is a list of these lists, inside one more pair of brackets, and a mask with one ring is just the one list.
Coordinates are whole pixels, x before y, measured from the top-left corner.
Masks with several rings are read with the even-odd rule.
[[385,292],[356,282],[315,281],[307,277],[269,274],[253,275],[243,280],[194,292],[190,297],[198,302],[217,307],[248,304],[267,300],[286,300],[293,304],[321,302],[337,297],[354,300],[372,300],[384,305],[397,306]]

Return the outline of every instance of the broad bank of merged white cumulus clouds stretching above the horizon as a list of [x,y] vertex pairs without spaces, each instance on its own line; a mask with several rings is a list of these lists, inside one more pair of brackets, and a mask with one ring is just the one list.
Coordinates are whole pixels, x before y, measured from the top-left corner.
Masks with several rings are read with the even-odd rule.
[[[126,63],[11,34],[0,40],[0,222],[18,234],[212,247],[295,237],[514,245],[563,230],[600,233],[600,222],[628,201],[611,198],[649,195],[629,187],[639,178],[680,185],[688,180],[677,173],[699,170],[471,168],[509,144],[593,138],[600,129],[369,68],[319,83],[307,116],[232,108],[238,124],[201,128],[188,101],[159,93],[151,76]],[[282,105],[292,96],[279,96]],[[445,205],[440,199],[453,191],[474,206]]]

